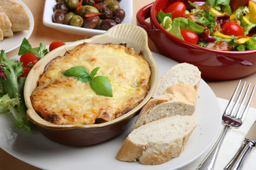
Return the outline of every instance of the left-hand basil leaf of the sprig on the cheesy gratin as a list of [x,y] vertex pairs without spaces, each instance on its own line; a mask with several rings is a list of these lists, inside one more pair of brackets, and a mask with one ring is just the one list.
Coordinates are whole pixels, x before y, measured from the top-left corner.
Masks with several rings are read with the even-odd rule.
[[88,71],[88,69],[82,66],[71,67],[70,69],[67,69],[64,72],[62,72],[62,74],[66,77],[73,77],[82,82],[88,82],[92,79],[89,76],[90,72]]

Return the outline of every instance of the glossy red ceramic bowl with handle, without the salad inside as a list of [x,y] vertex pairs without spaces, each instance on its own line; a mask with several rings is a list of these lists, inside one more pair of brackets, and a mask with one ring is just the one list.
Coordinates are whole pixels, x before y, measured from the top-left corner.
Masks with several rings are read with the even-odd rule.
[[[177,62],[196,65],[202,72],[203,79],[240,79],[256,72],[256,50],[244,52],[212,50],[176,38],[164,30],[156,21],[156,15],[174,1],[156,0],[137,13],[138,26],[146,30],[162,55]],[[242,0],[232,1],[231,8],[237,8],[246,3],[247,1]],[[150,22],[145,21],[149,17]]]

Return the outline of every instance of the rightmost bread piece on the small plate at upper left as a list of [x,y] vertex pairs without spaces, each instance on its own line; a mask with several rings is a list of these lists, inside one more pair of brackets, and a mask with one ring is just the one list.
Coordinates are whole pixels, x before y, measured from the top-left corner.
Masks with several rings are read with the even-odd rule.
[[0,0],[0,5],[11,21],[11,30],[13,32],[29,30],[30,22],[28,13],[26,13],[25,9],[18,1]]

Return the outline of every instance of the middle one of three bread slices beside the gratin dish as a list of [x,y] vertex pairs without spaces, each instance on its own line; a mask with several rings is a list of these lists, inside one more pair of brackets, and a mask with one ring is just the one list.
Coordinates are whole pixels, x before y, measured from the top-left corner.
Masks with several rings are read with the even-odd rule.
[[152,98],[146,103],[134,128],[173,115],[192,115],[195,110],[196,89],[189,84],[176,84],[167,88],[162,96]]

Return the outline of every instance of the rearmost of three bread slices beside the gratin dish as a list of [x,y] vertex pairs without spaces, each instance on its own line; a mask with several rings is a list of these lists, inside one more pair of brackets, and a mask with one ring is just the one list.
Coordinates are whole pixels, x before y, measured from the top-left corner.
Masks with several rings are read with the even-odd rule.
[[198,67],[185,62],[176,64],[159,79],[159,84],[152,97],[161,96],[169,86],[179,83],[190,84],[197,90],[200,80],[201,72]]

